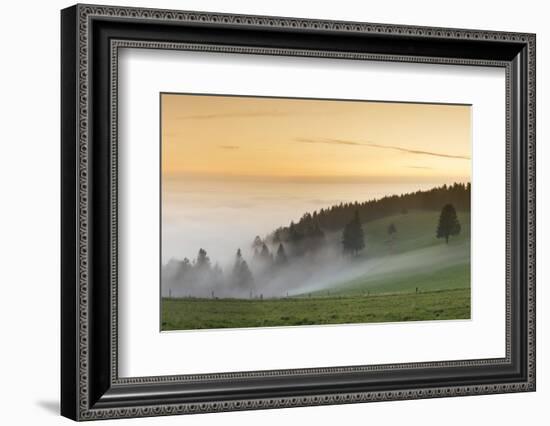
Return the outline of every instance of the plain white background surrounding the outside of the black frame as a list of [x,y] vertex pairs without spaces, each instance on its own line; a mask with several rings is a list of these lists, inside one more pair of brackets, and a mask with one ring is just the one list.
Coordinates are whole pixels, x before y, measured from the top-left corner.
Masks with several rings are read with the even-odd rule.
[[[540,0],[120,0],[104,4],[537,33],[538,390],[530,394],[293,408],[116,424],[545,424],[550,401],[550,27]],[[2,5],[0,43],[0,401],[2,424],[68,424],[59,405],[59,9]],[[545,161],[546,160],[546,161]],[[547,420],[546,420],[547,421]],[[110,424],[107,421],[102,424]],[[113,423],[115,424],[115,423]]]

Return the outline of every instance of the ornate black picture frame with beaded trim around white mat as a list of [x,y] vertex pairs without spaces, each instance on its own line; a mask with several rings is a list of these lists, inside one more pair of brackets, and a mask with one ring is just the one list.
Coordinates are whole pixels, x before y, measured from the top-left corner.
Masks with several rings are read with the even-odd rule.
[[[61,413],[159,416],[535,390],[535,35],[76,5],[61,13]],[[117,54],[186,49],[506,70],[506,356],[120,378]]]

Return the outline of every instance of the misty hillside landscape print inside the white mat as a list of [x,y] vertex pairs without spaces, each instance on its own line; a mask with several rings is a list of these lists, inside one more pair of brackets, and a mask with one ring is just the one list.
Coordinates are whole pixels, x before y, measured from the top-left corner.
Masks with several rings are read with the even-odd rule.
[[160,102],[162,331],[470,318],[471,105]]

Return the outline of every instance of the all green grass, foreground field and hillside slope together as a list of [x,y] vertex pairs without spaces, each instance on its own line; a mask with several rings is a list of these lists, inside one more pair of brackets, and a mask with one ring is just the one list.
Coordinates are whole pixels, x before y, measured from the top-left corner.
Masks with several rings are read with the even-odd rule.
[[[162,330],[470,318],[470,215],[449,244],[438,212],[411,211],[364,224],[365,272],[290,298],[163,299]],[[387,228],[397,233],[389,239]]]

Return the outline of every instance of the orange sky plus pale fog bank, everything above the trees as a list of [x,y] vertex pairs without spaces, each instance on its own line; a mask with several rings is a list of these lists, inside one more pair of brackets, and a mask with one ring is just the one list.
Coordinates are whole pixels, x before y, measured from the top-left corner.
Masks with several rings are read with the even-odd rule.
[[237,248],[340,202],[470,181],[463,105],[161,96],[162,261]]

